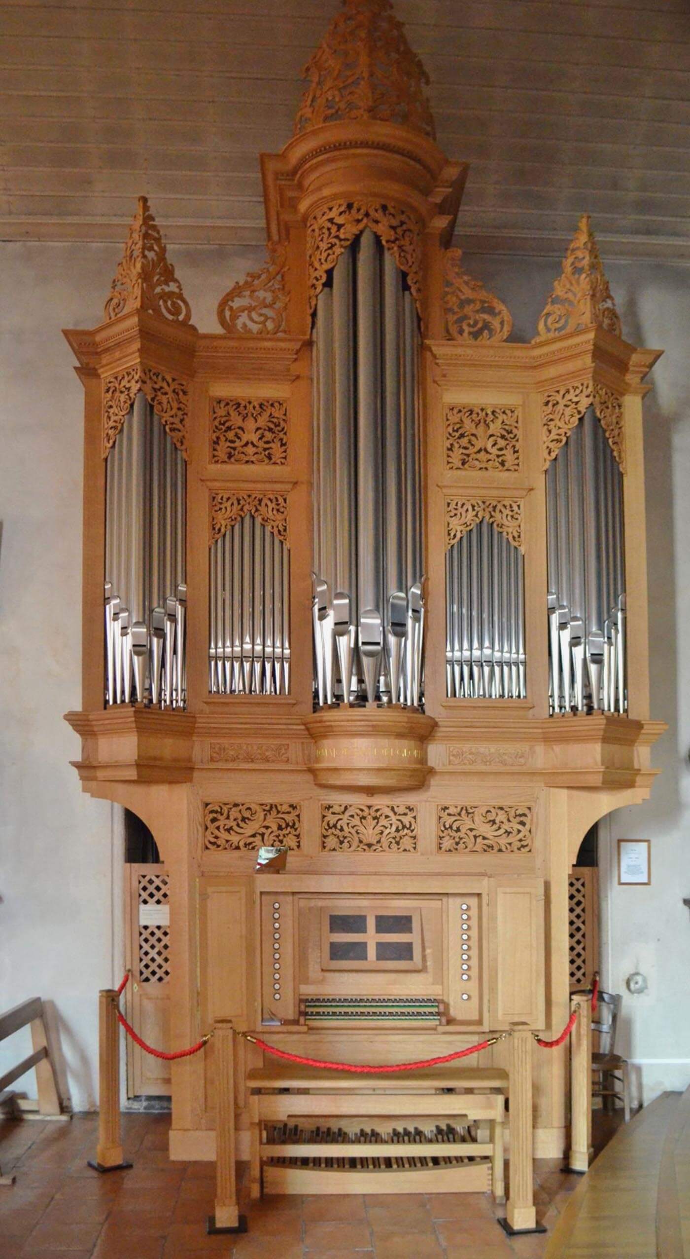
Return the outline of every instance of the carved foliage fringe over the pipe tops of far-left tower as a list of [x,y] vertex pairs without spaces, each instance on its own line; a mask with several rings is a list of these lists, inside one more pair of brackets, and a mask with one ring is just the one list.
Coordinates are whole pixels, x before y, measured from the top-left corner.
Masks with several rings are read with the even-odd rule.
[[141,364],[103,378],[103,458],[113,446],[140,389],[171,441],[187,458],[187,387],[176,376]]

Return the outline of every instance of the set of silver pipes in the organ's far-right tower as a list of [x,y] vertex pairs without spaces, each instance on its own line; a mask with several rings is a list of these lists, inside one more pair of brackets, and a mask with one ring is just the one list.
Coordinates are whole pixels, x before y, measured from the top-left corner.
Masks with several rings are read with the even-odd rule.
[[547,538],[550,710],[625,713],[622,473],[592,407],[547,468]]

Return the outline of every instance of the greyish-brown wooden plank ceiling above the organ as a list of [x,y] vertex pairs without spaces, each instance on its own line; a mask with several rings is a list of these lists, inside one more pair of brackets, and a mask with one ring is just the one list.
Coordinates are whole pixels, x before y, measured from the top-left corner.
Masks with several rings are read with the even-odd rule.
[[[339,0],[5,0],[0,238],[264,240],[258,154],[292,133]],[[466,251],[690,259],[689,0],[397,0]]]

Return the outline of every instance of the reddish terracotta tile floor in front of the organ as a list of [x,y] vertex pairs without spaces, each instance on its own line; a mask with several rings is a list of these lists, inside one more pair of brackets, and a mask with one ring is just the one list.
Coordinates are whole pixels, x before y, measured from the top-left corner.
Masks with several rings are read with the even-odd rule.
[[[123,1115],[133,1168],[99,1176],[96,1115],[72,1123],[0,1121],[0,1259],[535,1259],[545,1236],[509,1240],[505,1207],[485,1194],[273,1197],[243,1210],[249,1233],[209,1238],[212,1163],[171,1163],[166,1114]],[[616,1127],[617,1124],[613,1124]],[[610,1134],[598,1126],[600,1144]],[[611,1129],[611,1122],[608,1123]],[[603,1138],[603,1139],[602,1139]],[[538,1216],[553,1225],[578,1177],[535,1163]],[[244,1177],[243,1177],[244,1178]],[[244,1192],[244,1190],[243,1190]]]

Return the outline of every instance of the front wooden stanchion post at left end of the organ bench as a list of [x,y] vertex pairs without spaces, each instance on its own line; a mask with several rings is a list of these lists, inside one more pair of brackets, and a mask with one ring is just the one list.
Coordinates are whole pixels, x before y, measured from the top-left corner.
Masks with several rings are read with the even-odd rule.
[[235,1044],[229,1019],[214,1024],[216,1073],[216,1201],[206,1233],[246,1233],[246,1217],[238,1210],[235,1176]]

